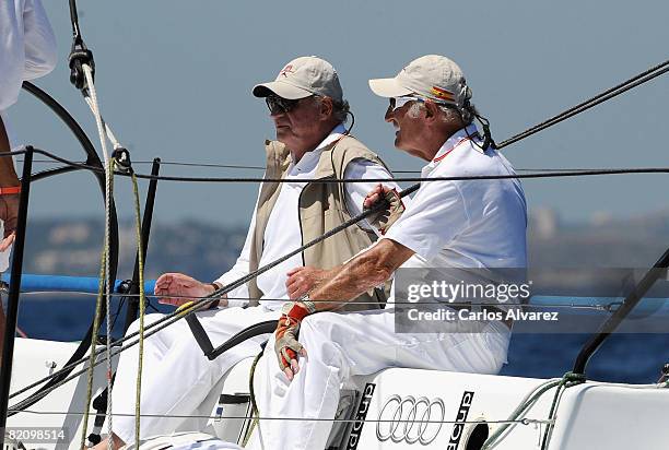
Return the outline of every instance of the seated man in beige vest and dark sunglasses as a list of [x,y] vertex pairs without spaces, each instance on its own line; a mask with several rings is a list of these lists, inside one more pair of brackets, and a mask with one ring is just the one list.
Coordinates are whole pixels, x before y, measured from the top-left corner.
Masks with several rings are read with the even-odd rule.
[[[260,186],[246,242],[230,271],[213,283],[166,273],[155,287],[164,303],[179,305],[186,298],[207,296],[322,235],[360,214],[366,193],[378,185],[304,180],[391,178],[383,162],[344,129],[349,104],[329,62],[316,57],[297,58],[283,67],[275,81],[256,85],[253,93],[266,99],[277,131],[277,141],[266,142],[265,177],[289,181]],[[198,318],[214,345],[254,323],[279,319],[284,301],[303,294],[301,283],[286,285],[289,274],[291,280],[317,279],[321,270],[341,264],[375,238],[371,229],[351,226],[230,292],[218,308],[198,312]],[[318,269],[291,271],[296,267]],[[249,300],[259,304],[247,307]],[[359,296],[350,309],[378,309],[383,301],[383,292],[372,288]],[[151,315],[146,322],[157,318],[160,315]],[[129,332],[136,330],[137,325],[132,325]],[[192,422],[185,425],[184,417],[171,416],[192,414],[201,407],[221,377],[239,360],[257,355],[266,340],[267,336],[248,340],[210,362],[184,321],[150,336],[144,350],[141,411],[145,416],[140,423],[140,436],[197,427]],[[121,354],[113,393],[115,447],[134,442],[132,393],[137,365],[134,352]],[[106,442],[101,446],[106,448]]]

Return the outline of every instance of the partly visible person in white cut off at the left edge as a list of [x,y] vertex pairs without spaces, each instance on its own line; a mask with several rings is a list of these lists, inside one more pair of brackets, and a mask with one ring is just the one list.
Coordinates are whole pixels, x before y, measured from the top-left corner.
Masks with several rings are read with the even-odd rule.
[[[12,146],[5,111],[19,99],[21,84],[46,75],[55,67],[56,38],[40,1],[0,1],[0,154]],[[20,192],[12,158],[0,157],[0,273],[9,268]],[[0,355],[3,338],[0,304]]]

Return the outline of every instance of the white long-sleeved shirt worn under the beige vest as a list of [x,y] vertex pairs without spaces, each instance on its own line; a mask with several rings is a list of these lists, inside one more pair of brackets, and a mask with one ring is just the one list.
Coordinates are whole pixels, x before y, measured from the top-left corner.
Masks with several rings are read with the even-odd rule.
[[[344,132],[344,127],[339,125],[313,151],[307,152],[302,156],[297,164],[291,164],[285,179],[309,179],[314,178],[316,174],[316,167],[318,159],[324,149],[340,139]],[[392,176],[386,170],[385,167],[371,163],[363,159],[354,159],[349,164],[344,171],[344,178],[350,179],[374,179],[374,178],[392,178]],[[378,182],[348,182],[345,183],[345,202],[349,212],[352,215],[362,213],[363,200],[367,193],[377,186]],[[399,189],[395,182],[385,182],[384,185],[391,188]],[[262,249],[262,257],[260,258],[259,267],[263,267],[292,250],[301,247],[302,233],[300,225],[298,202],[300,193],[306,186],[306,182],[284,182],[281,186],[281,191],[277,198],[277,203],[272,209],[270,217],[265,229],[265,247]],[[256,204],[257,208],[257,204]],[[250,254],[250,242],[256,228],[256,213],[254,209],[254,216],[248,227],[248,234],[242,254],[237,259],[235,265],[221,275],[216,280],[222,285],[230,284],[231,282],[248,274],[249,272],[249,254]],[[367,225],[368,226],[368,225]],[[343,262],[343,261],[342,261]],[[261,274],[257,279],[258,287],[265,294],[263,298],[284,298],[287,299],[287,291],[285,288],[285,282],[287,280],[286,273],[294,268],[304,265],[302,261],[302,254],[295,254],[292,258],[283,261],[281,264],[272,268],[266,273]],[[248,288],[246,285],[240,286],[228,294],[228,297],[244,297],[248,298]],[[283,301],[275,300],[262,300],[261,304],[269,309],[279,309]],[[246,303],[246,301],[243,301]],[[231,301],[231,305],[238,305],[236,301]]]

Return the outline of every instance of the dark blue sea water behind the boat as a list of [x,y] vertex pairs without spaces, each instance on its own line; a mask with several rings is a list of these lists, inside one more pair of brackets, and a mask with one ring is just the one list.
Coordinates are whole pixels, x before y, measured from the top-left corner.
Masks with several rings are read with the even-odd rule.
[[[115,299],[111,307],[114,316],[119,311],[118,307],[118,299]],[[163,312],[173,310],[161,305],[155,307]],[[152,308],[148,309],[148,312],[153,311]],[[23,295],[19,327],[28,338],[79,341],[89,329],[94,312],[95,296],[44,299],[44,296]],[[124,306],[115,323],[116,338],[122,334],[125,322]],[[586,333],[515,333],[508,352],[508,364],[502,374],[561,377],[572,369],[578,352],[590,336]],[[599,381],[649,383],[660,377],[665,363],[669,363],[669,334],[614,334],[592,356],[587,376]]]

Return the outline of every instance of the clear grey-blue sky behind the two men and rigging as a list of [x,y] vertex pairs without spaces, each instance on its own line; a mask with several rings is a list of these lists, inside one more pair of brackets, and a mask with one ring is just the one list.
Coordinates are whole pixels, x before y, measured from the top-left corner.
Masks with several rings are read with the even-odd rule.
[[[91,114],[69,84],[67,2],[44,1],[59,42],[59,64],[37,84],[59,99],[96,143]],[[250,95],[296,56],[337,68],[355,112],[353,133],[398,170],[421,162],[396,151],[383,121],[386,102],[369,78],[391,76],[425,54],[457,61],[497,141],[669,58],[669,3],[446,1],[80,0],[84,39],[95,54],[103,114],[133,161],[263,164],[273,137],[263,102]],[[669,75],[505,150],[518,168],[669,166],[664,129]],[[10,110],[27,142],[81,159],[75,141],[25,94]],[[39,166],[42,168],[45,165]],[[136,169],[149,173],[149,166]],[[258,171],[165,167],[163,174],[260,176]],[[668,210],[669,177],[617,176],[525,181],[530,210],[549,206],[568,221],[595,213],[629,216]],[[40,181],[34,216],[99,215],[90,175]],[[156,220],[244,224],[253,185],[159,186]],[[119,215],[132,214],[127,180]]]

